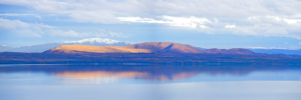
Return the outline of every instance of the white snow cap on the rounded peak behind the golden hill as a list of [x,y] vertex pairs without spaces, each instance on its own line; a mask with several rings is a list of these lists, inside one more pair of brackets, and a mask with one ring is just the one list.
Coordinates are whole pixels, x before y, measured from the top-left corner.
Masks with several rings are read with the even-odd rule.
[[[79,40],[79,41],[65,41],[65,42],[61,42],[61,43],[86,43],[89,42],[91,44],[93,43],[106,43],[106,44],[115,44],[115,43],[123,43],[122,41],[117,41],[117,40],[112,40],[112,39],[108,39],[108,38],[89,38],[89,39],[83,39],[83,40]],[[129,43],[126,43],[129,44]]]

